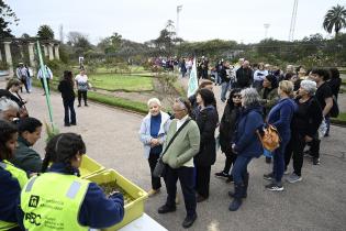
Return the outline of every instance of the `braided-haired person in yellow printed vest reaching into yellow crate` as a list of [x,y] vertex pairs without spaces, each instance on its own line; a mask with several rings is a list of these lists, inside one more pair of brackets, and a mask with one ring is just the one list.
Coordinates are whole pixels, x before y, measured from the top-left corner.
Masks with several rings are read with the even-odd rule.
[[120,193],[105,196],[97,184],[79,178],[78,167],[85,153],[86,145],[75,133],[62,133],[48,142],[43,174],[31,178],[21,193],[19,217],[23,229],[102,229],[123,219],[124,200]]

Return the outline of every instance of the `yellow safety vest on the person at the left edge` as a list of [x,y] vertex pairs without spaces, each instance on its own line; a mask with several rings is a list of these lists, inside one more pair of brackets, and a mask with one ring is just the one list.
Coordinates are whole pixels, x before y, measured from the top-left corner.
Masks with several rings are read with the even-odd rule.
[[[24,187],[25,183],[27,182],[27,176],[26,176],[26,173],[24,170],[22,170],[18,167],[14,167],[13,164],[11,164],[8,161],[0,162],[0,167],[10,172],[12,177],[18,180],[21,188]],[[13,229],[15,227],[18,227],[16,223],[0,220],[0,231]]]

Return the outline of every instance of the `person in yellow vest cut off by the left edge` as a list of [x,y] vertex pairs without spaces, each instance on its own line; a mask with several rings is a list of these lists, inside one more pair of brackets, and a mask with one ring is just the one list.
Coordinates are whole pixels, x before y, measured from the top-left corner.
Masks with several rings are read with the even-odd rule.
[[18,132],[10,122],[0,120],[0,230],[21,230],[15,216],[21,188],[26,173],[16,168],[11,160],[16,147]]

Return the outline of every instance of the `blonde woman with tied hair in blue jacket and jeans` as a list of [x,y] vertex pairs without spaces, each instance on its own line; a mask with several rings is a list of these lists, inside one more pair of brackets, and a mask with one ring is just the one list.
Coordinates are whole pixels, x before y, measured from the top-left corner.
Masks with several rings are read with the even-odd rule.
[[292,94],[293,84],[288,80],[280,81],[278,88],[280,100],[268,114],[268,123],[278,129],[281,138],[280,146],[272,153],[272,172],[264,175],[265,179],[271,180],[271,184],[267,185],[266,188],[272,191],[283,190],[281,179],[284,172],[284,150],[291,139],[290,125],[297,110],[297,103],[291,99]]

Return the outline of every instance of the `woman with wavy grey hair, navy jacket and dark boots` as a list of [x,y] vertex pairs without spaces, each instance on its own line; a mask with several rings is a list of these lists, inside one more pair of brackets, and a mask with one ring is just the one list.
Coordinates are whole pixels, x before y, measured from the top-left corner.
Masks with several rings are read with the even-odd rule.
[[230,191],[233,201],[231,211],[236,211],[242,206],[242,198],[247,196],[248,172],[247,165],[254,157],[259,157],[263,146],[256,133],[263,127],[263,109],[259,105],[259,95],[255,88],[246,88],[241,91],[243,111],[232,144],[233,153],[237,154],[232,169],[234,179],[234,193]]

